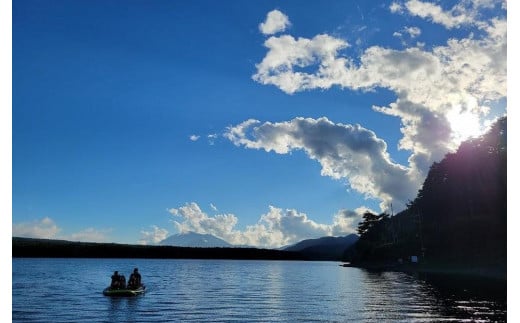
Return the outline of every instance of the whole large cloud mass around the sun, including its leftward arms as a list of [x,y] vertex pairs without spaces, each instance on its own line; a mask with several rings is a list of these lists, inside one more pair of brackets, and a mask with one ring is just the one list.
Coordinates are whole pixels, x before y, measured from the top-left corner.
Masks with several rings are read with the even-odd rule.
[[[283,34],[265,41],[267,53],[252,76],[260,84],[287,94],[333,86],[395,93],[395,102],[372,110],[400,118],[398,148],[410,151],[406,166],[391,162],[385,142],[374,132],[326,118],[247,120],[229,127],[226,137],[238,146],[280,154],[302,149],[320,162],[323,175],[345,178],[357,191],[402,208],[415,196],[430,165],[469,134],[481,131],[484,121],[493,117],[488,117],[490,104],[506,97],[505,15],[489,18],[479,11],[495,6],[503,10],[505,3],[463,1],[446,9],[419,0],[391,4],[389,11],[395,14],[478,32],[428,50],[424,44],[404,49],[372,46],[359,57],[349,57],[344,50],[350,44],[327,34],[313,38]],[[410,26],[396,35],[402,32],[411,38],[421,34]]]

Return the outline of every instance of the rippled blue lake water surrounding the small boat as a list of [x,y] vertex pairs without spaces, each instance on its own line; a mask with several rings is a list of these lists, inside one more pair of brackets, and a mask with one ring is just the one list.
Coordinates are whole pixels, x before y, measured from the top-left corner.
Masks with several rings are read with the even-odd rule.
[[[103,296],[114,270],[139,268],[146,294]],[[506,321],[505,283],[336,262],[12,260],[13,322]]]

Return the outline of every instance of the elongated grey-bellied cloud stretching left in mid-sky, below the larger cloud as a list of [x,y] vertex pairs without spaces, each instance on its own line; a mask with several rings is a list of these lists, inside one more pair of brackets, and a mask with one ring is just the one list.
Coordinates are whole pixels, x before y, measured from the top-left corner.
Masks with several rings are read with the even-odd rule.
[[393,202],[404,208],[419,184],[409,169],[390,160],[386,143],[360,125],[334,124],[327,118],[263,124],[248,120],[228,128],[225,137],[237,146],[278,154],[304,150],[321,164],[322,175],[347,179],[352,188],[382,205]]

